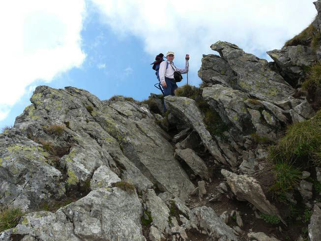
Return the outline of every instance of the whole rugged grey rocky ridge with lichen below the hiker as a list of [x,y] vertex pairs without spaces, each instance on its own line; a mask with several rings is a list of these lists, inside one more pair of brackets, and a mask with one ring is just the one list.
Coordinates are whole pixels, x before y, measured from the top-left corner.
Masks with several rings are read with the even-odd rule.
[[[321,0],[314,4],[321,34]],[[163,116],[155,94],[151,108],[123,96],[101,101],[73,87],[37,87],[0,134],[0,208],[25,213],[0,241],[321,240],[321,194],[310,178],[321,185],[320,168],[301,173],[286,193],[308,219],[288,227],[269,192],[275,164],[263,144],[316,115],[310,99],[295,93],[321,49],[284,47],[267,52],[268,63],[232,43],[210,48],[219,55],[203,56],[199,95],[165,97],[170,114]],[[204,103],[226,129],[210,128]]]

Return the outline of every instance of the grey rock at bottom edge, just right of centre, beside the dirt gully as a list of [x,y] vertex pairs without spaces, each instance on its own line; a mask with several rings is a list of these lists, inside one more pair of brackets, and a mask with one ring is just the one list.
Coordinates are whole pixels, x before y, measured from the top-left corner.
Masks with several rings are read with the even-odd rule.
[[222,241],[237,241],[233,229],[227,226],[215,211],[209,207],[198,207],[191,210],[190,220],[185,229],[205,230],[209,238]]

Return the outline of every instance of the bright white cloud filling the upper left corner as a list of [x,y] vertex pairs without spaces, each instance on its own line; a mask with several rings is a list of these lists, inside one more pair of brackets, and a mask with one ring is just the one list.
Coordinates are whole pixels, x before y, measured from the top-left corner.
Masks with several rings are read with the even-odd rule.
[[0,121],[34,81],[79,67],[85,0],[0,3]]

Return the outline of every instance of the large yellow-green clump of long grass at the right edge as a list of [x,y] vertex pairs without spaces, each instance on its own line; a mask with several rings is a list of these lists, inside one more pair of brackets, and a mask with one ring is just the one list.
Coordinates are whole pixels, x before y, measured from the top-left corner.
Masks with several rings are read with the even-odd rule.
[[[275,163],[296,163],[310,159],[321,164],[321,111],[307,121],[289,125],[276,146],[269,150],[269,158]],[[301,162],[300,162],[301,161]],[[306,163],[307,164],[307,163]]]

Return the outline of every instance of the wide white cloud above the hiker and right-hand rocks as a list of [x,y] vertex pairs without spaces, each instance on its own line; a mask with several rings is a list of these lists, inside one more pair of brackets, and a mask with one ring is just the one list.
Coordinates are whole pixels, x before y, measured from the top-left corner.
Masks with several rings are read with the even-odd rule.
[[306,28],[317,14],[313,0],[92,0],[101,20],[121,36],[133,34],[144,41],[152,57],[172,50],[183,64],[191,55],[196,73],[202,54],[218,40],[263,56],[281,48],[287,39]]

